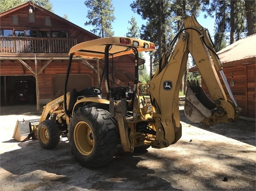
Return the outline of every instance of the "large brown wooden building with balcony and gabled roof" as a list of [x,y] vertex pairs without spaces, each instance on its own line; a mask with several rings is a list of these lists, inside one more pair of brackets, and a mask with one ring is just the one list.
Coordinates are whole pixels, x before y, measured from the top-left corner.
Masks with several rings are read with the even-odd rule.
[[[0,22],[1,104],[10,102],[16,81],[34,81],[37,105],[63,95],[69,49],[99,38],[30,1],[2,12]],[[68,91],[98,87],[103,63],[77,58]],[[114,58],[115,85],[133,85],[134,63],[133,55]]]

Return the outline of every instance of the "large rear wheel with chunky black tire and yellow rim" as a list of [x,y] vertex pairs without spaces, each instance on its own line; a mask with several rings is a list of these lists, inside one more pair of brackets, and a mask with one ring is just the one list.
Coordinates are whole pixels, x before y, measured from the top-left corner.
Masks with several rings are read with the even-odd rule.
[[81,107],[70,118],[69,144],[71,153],[82,166],[106,166],[115,155],[118,134],[115,120],[106,110]]

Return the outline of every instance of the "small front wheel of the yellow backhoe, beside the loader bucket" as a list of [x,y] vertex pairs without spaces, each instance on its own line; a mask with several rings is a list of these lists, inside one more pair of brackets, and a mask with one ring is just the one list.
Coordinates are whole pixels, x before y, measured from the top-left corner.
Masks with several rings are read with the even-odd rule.
[[38,142],[44,149],[53,149],[60,142],[60,130],[52,120],[44,120],[37,128]]

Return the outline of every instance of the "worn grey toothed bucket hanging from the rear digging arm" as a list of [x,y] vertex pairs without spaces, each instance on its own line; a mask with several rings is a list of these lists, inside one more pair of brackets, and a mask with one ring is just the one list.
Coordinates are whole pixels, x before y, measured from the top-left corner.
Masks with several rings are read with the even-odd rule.
[[198,81],[188,81],[185,95],[184,112],[188,120],[194,123],[202,122],[212,116],[214,102],[208,98]]

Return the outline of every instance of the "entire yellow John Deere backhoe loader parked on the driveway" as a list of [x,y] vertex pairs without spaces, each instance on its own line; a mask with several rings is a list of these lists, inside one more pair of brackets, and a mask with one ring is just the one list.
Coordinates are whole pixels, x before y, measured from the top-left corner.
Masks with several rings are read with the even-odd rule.
[[[41,118],[29,123],[30,132],[22,139],[35,138],[43,148],[52,149],[58,145],[60,135],[67,134],[75,159],[91,168],[107,165],[120,144],[125,152],[150,146],[159,149],[175,144],[181,138],[179,88],[189,53],[211,99],[198,83],[188,82],[185,115],[192,122],[208,126],[218,122],[234,122],[242,110],[232,95],[207,29],[198,24],[193,16],[183,15],[182,19],[181,28],[147,84],[138,80],[138,53],[155,50],[155,45],[149,41],[109,37],[72,47],[64,95],[44,106]],[[111,87],[109,58],[131,53],[135,55],[134,87]],[[100,87],[67,92],[73,57],[105,60]],[[217,71],[232,100],[227,99]],[[106,99],[101,98],[103,82]],[[20,124],[17,122],[14,132],[16,140],[21,140]]]

